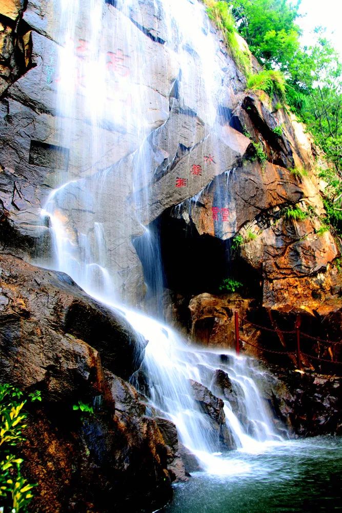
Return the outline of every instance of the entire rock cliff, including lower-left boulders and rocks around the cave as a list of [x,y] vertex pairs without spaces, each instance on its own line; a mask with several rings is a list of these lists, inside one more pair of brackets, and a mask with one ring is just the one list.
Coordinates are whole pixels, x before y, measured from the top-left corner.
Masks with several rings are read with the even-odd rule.
[[[184,2],[192,9],[193,1]],[[35,511],[149,511],[170,497],[171,481],[186,479],[183,462],[191,455],[172,423],[147,416],[146,398],[129,383],[146,341],[122,312],[92,300],[68,275],[37,267],[55,263],[44,212],[53,191],[63,187],[63,197],[55,195],[56,217],[79,254],[83,236],[96,253],[95,225],[103,226],[105,267],[127,303],[144,304],[145,281],[150,285],[144,226],[155,232],[169,320],[211,346],[232,346],[236,309],[249,321],[257,312],[263,324],[273,311],[284,329],[301,313],[311,334],[319,326],[321,337],[337,340],[340,245],[320,229],[320,155],[310,135],[279,108],[278,98],[246,90],[244,74],[206,16],[199,32],[212,42],[209,68],[189,42],[175,39],[159,0],[137,0],[129,10],[103,2],[101,51],[110,87],[92,98],[103,109],[99,121],[92,107],[93,117],[85,113],[81,72],[90,2],[82,3],[70,41],[57,23],[65,14],[53,4],[0,5],[1,380],[43,394],[42,406],[32,407],[23,447],[31,461],[27,475],[43,483]],[[65,49],[74,52],[78,70],[77,115],[65,114],[58,97]],[[94,139],[101,141],[96,159]],[[294,209],[300,219],[289,215]],[[237,235],[242,244],[232,251]],[[216,293],[231,269],[244,282],[244,295]],[[263,355],[263,333],[252,325],[243,330],[243,344],[256,346],[245,350]],[[270,340],[281,346],[277,336]],[[318,354],[317,347],[310,351]],[[280,360],[273,363],[293,365]],[[222,400],[196,382],[192,387],[226,443]],[[274,403],[284,418],[290,396],[285,406]],[[102,407],[94,416],[73,412],[77,401],[95,398]],[[303,427],[297,414],[292,425],[301,434],[317,432]]]

